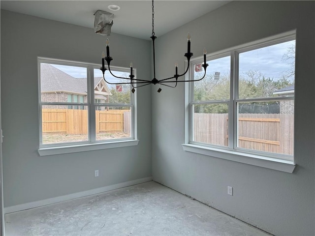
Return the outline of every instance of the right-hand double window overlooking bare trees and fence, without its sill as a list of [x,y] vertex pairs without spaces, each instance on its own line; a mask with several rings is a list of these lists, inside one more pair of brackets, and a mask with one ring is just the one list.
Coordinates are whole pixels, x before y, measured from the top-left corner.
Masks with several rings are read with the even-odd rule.
[[[191,78],[203,76],[202,60],[190,63]],[[207,63],[206,77],[189,85],[187,143],[293,162],[295,33]]]

